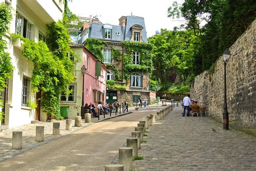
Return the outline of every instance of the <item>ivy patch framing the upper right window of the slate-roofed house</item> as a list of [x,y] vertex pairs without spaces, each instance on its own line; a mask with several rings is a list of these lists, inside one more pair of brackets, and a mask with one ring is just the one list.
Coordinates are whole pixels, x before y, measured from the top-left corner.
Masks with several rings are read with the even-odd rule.
[[[133,41],[122,41],[123,46],[128,54],[123,54],[123,66],[124,66],[124,79],[129,80],[129,75],[131,72],[152,72],[152,48],[151,44],[143,42],[133,42]],[[133,52],[139,52],[140,65],[134,65]]]

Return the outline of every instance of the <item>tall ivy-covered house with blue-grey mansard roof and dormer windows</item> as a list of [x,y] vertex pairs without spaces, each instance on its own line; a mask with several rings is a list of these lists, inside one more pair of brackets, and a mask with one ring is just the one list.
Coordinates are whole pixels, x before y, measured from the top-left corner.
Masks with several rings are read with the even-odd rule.
[[107,65],[107,103],[117,100],[136,105],[139,97],[146,97],[150,102],[152,46],[147,43],[143,17],[122,16],[118,26],[91,23],[78,36],[77,42],[92,52],[97,51],[92,44],[102,47],[94,54]]

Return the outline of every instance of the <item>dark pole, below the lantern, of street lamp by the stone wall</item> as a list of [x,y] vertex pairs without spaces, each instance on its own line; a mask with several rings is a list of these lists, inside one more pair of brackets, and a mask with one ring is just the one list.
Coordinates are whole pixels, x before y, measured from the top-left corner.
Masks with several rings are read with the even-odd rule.
[[224,105],[223,105],[223,107],[224,107],[223,129],[228,130],[226,62],[224,62]]

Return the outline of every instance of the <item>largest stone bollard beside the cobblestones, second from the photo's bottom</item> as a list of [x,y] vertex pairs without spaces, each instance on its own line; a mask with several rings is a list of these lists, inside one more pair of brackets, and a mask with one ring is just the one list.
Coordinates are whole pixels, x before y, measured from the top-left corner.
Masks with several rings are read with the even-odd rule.
[[119,148],[118,164],[124,165],[124,170],[132,169],[132,148],[130,147]]

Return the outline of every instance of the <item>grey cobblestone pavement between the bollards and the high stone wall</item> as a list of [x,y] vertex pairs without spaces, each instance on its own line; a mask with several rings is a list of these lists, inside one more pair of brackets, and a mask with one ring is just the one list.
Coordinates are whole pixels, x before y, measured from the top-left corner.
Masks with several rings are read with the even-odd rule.
[[147,131],[134,170],[256,170],[255,137],[208,117],[181,117],[181,107]]

